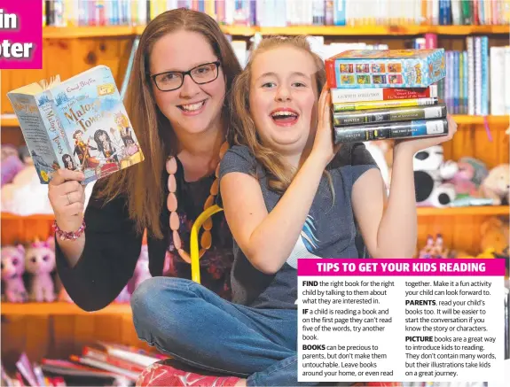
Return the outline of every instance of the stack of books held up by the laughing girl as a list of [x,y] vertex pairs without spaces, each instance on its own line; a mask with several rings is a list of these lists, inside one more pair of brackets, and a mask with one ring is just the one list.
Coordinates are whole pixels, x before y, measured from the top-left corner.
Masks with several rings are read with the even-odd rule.
[[335,143],[448,135],[443,49],[347,50],[326,59]]

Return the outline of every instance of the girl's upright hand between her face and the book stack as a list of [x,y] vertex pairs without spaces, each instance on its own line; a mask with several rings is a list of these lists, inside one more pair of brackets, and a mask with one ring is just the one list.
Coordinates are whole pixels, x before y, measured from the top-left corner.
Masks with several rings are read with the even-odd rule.
[[333,123],[331,120],[331,95],[327,84],[322,89],[318,99],[318,125],[315,135],[315,141],[311,152],[315,154],[318,159],[324,160],[326,167],[334,155],[339,151],[340,144],[334,146],[333,144]]

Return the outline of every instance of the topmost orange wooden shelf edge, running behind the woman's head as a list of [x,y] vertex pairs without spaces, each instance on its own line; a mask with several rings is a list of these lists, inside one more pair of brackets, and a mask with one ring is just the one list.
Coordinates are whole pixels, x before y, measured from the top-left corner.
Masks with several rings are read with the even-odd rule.
[[[224,34],[251,36],[256,32],[262,35],[422,35],[434,33],[438,35],[475,35],[496,34],[508,35],[510,26],[289,26],[289,27],[247,27],[220,26]],[[145,26],[76,26],[76,27],[43,27],[44,39],[71,39],[107,36],[142,35]]]

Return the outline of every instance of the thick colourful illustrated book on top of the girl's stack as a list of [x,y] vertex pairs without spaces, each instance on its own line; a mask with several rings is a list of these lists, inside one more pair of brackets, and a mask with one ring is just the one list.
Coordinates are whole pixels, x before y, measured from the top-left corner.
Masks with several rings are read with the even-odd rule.
[[444,49],[347,50],[326,59],[331,89],[427,88],[445,76]]

